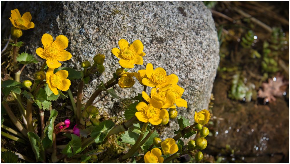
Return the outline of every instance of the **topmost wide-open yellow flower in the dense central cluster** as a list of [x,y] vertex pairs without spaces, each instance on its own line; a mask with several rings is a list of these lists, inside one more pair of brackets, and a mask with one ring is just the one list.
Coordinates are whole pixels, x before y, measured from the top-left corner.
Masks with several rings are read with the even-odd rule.
[[178,77],[175,74],[166,75],[163,68],[153,69],[153,65],[148,63],[146,66],[147,77],[142,79],[143,85],[148,87],[156,87],[159,90],[167,90],[171,85],[177,84]]

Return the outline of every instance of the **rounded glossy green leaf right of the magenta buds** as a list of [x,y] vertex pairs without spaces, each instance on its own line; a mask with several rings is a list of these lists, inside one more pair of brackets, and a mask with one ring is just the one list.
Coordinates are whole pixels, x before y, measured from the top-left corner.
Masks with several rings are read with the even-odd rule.
[[102,121],[99,126],[95,126],[91,137],[95,138],[95,143],[101,143],[106,138],[108,132],[115,126],[112,120]]

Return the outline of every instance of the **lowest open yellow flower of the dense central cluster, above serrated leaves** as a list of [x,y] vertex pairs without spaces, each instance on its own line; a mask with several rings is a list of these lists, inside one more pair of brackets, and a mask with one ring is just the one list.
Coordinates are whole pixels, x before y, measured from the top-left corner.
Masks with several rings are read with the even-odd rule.
[[167,110],[154,107],[151,103],[148,105],[145,102],[137,104],[135,113],[137,119],[144,123],[151,123],[152,125],[159,125],[165,115],[168,114]]

